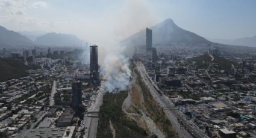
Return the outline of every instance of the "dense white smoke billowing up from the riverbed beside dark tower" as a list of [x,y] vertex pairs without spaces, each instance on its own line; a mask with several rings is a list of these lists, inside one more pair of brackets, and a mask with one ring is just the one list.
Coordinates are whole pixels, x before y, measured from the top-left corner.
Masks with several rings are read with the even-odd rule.
[[114,42],[98,46],[100,75],[108,92],[123,91],[130,84],[129,58],[123,55],[124,48]]

